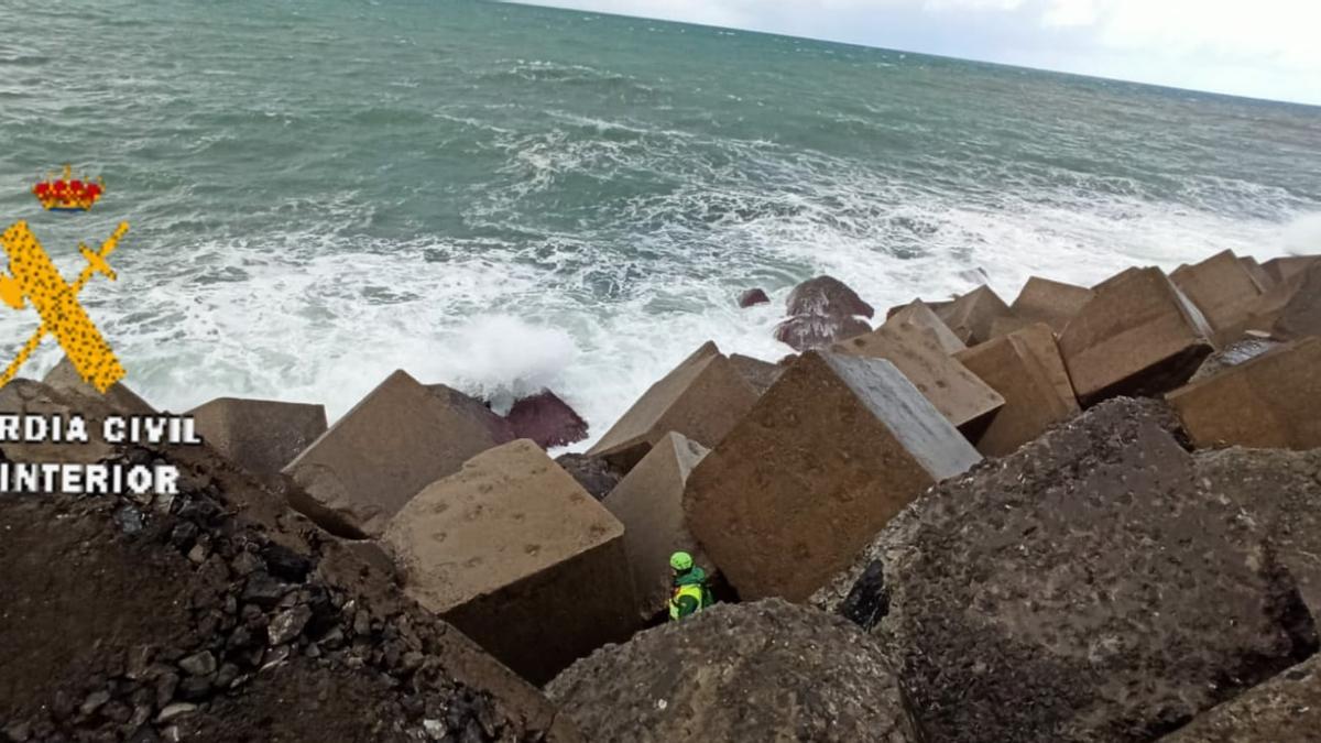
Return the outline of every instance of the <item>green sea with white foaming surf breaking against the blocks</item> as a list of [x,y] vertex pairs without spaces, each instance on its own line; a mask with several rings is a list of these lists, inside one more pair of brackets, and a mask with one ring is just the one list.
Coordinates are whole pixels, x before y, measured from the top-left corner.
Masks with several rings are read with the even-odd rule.
[[[129,223],[81,297],[174,412],[334,420],[404,369],[551,389],[598,438],[707,340],[789,353],[814,275],[884,313],[1321,251],[1316,107],[470,0],[0,0],[0,227],[71,280]],[[30,193],[66,163],[90,213]],[[0,362],[40,323],[0,305]]]

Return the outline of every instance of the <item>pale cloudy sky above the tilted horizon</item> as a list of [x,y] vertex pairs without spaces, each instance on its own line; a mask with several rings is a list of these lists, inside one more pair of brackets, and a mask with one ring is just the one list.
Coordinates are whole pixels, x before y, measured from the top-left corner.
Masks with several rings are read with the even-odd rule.
[[1321,104],[1318,0],[522,0]]

